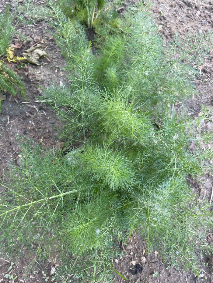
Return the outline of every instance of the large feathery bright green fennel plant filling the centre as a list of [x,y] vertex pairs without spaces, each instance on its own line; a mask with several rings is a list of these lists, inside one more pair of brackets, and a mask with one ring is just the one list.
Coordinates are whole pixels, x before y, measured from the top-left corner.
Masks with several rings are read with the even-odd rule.
[[[184,76],[193,68],[181,60],[190,60],[191,51],[177,41],[162,49],[140,3],[120,19],[122,32],[99,26],[97,55],[77,20],[55,5],[52,17],[70,83],[47,89],[45,101],[65,121],[67,152],[22,144],[21,166],[2,182],[1,242],[10,254],[24,244],[40,259],[60,251],[64,281],[74,275],[79,282],[110,282],[120,241],[138,232],[169,266],[198,275],[195,251],[212,249],[205,240],[212,215],[187,177],[199,180],[212,170],[213,152],[189,148],[191,140],[199,145],[213,133],[199,133],[209,116],[204,107],[191,120],[169,106],[184,87],[190,90]],[[100,45],[104,35],[109,41]],[[189,39],[194,53],[207,49],[199,40]],[[123,52],[116,57],[118,46]],[[149,111],[154,99],[162,106],[158,126]]]

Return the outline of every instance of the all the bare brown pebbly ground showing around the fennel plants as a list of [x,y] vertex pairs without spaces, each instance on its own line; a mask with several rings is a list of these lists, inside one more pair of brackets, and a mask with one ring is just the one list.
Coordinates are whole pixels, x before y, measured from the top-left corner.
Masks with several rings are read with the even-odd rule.
[[[22,5],[22,2],[19,1]],[[132,0],[131,2],[134,2]],[[197,1],[197,0],[153,0],[153,16],[159,32],[162,34],[165,44],[175,32],[178,32],[181,37],[184,37],[187,32],[207,32],[213,29],[213,1]],[[14,9],[12,2],[11,10]],[[4,0],[0,0],[0,10],[5,10],[8,4]],[[122,13],[125,10],[128,1],[123,3],[123,8],[119,8],[118,12]],[[37,5],[44,5],[43,1],[36,2]],[[200,12],[197,12],[200,11]],[[49,54],[48,58],[41,58],[41,65],[36,66],[26,64],[24,68],[18,69],[19,63],[7,63],[19,76],[23,78],[28,94],[27,100],[20,96],[11,97],[6,94],[6,99],[2,102],[2,113],[0,116],[0,173],[7,168],[7,163],[15,162],[18,159],[19,147],[17,144],[16,135],[26,135],[33,138],[35,143],[42,143],[45,147],[60,146],[57,140],[56,128],[61,128],[62,123],[59,121],[48,106],[35,102],[35,97],[42,96],[42,88],[49,87],[52,84],[66,83],[65,61],[60,54],[58,46],[55,44],[51,33],[47,30],[48,27],[45,19],[36,22],[33,25],[17,25],[17,33],[14,35],[12,43],[19,43],[21,48],[15,49],[15,55],[20,55],[24,50],[30,48],[36,43],[42,44],[43,49]],[[88,35],[89,36],[89,35]],[[201,67],[201,77],[195,81],[196,89],[199,96],[193,96],[187,100],[187,108],[189,116],[199,116],[201,105],[204,104],[212,109],[213,103],[213,53],[210,52],[210,57],[205,59],[205,63]],[[60,83],[61,81],[61,83]],[[27,102],[27,103],[25,103]],[[176,109],[183,107],[183,104],[175,106]],[[212,112],[213,113],[213,112]],[[7,122],[10,123],[7,123]],[[213,130],[213,117],[209,118],[208,122],[203,123],[203,130]],[[60,141],[61,142],[61,141]],[[63,142],[63,141],[62,141]],[[193,145],[192,145],[193,146]],[[213,146],[213,142],[204,147]],[[190,180],[192,190],[198,192],[200,199],[210,199],[213,177],[211,174],[206,174],[202,178],[202,184],[198,184],[194,180]],[[207,240],[213,244],[213,236],[209,234]],[[146,245],[141,241],[138,235],[133,235],[127,246],[122,247],[125,256],[114,260],[114,267],[123,276],[129,278],[129,282],[150,282],[150,283],[199,283],[206,281],[213,282],[213,257],[204,256],[201,260],[201,275],[196,278],[191,275],[191,272],[182,270],[180,273],[175,268],[167,269],[167,264],[162,263],[162,259],[158,251],[153,251],[147,254]],[[199,252],[199,251],[198,251]],[[45,282],[45,277],[42,273],[51,280],[51,266],[57,268],[56,261],[50,260],[40,267],[34,268],[30,272],[26,272],[31,257],[23,248],[23,257],[15,261],[9,259],[7,254],[4,258],[0,258],[0,281],[9,282],[10,279],[5,278],[5,274],[9,273],[10,262],[14,261],[11,273],[16,273],[16,282]],[[34,272],[33,272],[34,271]],[[154,276],[153,276],[154,275]],[[124,282],[120,276],[115,275],[114,282]],[[72,281],[70,281],[72,282]]]

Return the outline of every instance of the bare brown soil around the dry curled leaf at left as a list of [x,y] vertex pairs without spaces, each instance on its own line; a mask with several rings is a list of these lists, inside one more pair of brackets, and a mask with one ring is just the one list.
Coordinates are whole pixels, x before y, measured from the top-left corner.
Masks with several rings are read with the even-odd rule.
[[66,82],[65,61],[47,30],[50,30],[50,27],[45,21],[27,26],[19,23],[16,28],[17,33],[12,39],[12,44],[21,46],[14,50],[14,55],[20,56],[24,50],[35,44],[41,44],[40,48],[48,53],[48,57],[41,57],[40,66],[25,63],[22,68],[20,63],[5,61],[6,66],[22,77],[28,97],[23,99],[19,95],[12,97],[6,93],[5,100],[1,103],[0,174],[2,169],[7,167],[8,162],[16,162],[18,159],[17,135],[32,138],[35,143],[42,143],[44,148],[59,145],[58,133],[54,128],[60,129],[61,121],[45,104],[35,102],[37,96],[42,96],[42,88],[53,84],[60,86],[60,83]]

